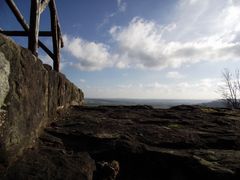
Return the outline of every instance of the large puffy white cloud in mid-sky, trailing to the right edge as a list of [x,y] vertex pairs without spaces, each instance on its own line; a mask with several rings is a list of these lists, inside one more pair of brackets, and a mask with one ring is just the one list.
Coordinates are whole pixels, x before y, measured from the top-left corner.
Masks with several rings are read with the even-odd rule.
[[112,27],[110,34],[119,46],[125,67],[180,67],[200,61],[239,59],[240,43],[228,38],[236,34],[213,34],[186,42],[166,40],[165,34],[177,33],[177,25],[159,26],[154,21],[134,18],[127,27]]

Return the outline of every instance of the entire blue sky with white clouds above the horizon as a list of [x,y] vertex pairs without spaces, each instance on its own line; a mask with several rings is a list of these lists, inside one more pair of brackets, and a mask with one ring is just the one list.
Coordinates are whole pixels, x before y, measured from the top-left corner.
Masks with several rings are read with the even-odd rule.
[[[15,0],[29,21],[28,0]],[[218,99],[240,61],[239,0],[56,0],[61,72],[86,98]],[[0,27],[21,30],[4,0]],[[49,30],[49,12],[41,16]],[[14,38],[26,47],[26,39]],[[42,38],[51,47],[51,39]],[[41,50],[39,57],[52,64]]]

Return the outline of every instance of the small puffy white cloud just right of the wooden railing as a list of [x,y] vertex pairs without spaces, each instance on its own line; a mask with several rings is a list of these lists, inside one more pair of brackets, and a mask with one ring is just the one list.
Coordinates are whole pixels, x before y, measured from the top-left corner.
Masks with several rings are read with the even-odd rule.
[[77,60],[73,66],[80,70],[95,71],[111,67],[111,54],[109,47],[102,43],[89,42],[80,37],[70,38],[63,36],[65,42],[64,50],[69,52]]

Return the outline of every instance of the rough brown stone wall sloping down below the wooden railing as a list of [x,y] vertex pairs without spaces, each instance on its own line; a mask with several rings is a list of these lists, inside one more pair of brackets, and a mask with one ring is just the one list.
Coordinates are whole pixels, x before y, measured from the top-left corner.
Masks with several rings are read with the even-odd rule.
[[34,145],[58,108],[82,103],[82,91],[63,74],[0,34],[0,162]]

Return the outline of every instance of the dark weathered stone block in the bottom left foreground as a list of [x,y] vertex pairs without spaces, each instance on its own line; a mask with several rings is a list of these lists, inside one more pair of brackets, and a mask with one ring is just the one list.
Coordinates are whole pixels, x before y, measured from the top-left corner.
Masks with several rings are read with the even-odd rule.
[[0,178],[92,180],[94,171],[94,160],[87,152],[74,153],[64,149],[40,147],[26,151]]

